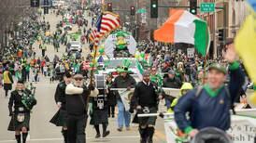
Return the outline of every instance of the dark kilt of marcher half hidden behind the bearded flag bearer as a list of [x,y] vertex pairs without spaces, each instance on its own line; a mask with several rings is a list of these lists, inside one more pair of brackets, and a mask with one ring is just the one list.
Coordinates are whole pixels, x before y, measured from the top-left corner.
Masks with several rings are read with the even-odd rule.
[[50,123],[56,126],[66,126],[67,113],[66,110],[58,110],[55,115],[51,118]]

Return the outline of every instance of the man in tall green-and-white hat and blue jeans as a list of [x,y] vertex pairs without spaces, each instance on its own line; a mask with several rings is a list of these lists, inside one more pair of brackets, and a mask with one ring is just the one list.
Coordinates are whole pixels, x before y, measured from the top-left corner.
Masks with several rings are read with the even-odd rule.
[[[135,87],[135,78],[129,75],[129,67],[131,65],[131,61],[128,59],[123,59],[122,65],[117,69],[120,72],[120,75],[117,76],[112,84],[112,88],[127,88],[130,90]],[[122,91],[121,91],[122,92]],[[117,95],[117,104],[118,104],[118,131],[122,131],[123,124],[125,123],[125,127],[127,130],[130,129],[131,123],[131,114],[129,109],[125,109],[123,101],[121,100],[121,92],[117,91],[115,94]]]

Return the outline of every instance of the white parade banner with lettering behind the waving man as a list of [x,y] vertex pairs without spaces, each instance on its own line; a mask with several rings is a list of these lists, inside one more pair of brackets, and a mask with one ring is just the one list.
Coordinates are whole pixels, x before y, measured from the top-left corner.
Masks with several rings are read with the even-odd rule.
[[[254,115],[254,116],[249,116]],[[256,133],[256,110],[236,110],[231,117],[231,128],[227,133],[232,137],[234,143],[252,143]],[[167,143],[179,143],[187,140],[187,136],[178,130],[174,116],[164,118],[164,130]]]

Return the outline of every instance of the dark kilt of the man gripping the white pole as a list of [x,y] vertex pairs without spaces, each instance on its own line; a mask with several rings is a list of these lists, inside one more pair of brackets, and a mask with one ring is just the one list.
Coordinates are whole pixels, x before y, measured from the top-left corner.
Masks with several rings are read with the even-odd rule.
[[[157,108],[156,107],[151,107],[149,108],[149,113],[156,113]],[[143,113],[143,112],[142,112]],[[155,125],[157,117],[143,117],[143,118],[138,118],[137,114],[135,114],[135,118],[133,120],[133,123],[139,123],[140,125]]]

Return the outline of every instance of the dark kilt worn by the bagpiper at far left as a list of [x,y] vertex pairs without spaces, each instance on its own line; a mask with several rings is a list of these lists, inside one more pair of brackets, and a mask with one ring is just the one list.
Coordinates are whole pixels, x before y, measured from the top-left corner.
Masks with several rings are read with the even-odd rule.
[[26,127],[27,131],[29,131],[29,123],[30,123],[30,113],[26,112],[24,113],[24,121],[19,122],[18,119],[18,113],[15,113],[9,122],[8,131],[19,131],[22,127]]

